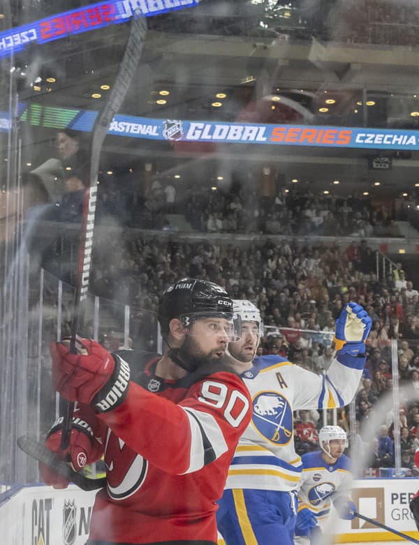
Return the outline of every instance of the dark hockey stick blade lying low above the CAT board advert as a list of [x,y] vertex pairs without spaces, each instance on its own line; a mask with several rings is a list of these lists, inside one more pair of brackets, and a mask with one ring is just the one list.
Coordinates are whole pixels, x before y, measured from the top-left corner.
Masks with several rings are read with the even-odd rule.
[[103,479],[89,479],[80,475],[80,473],[73,471],[68,463],[57,456],[57,454],[54,454],[50,449],[47,449],[36,439],[30,438],[28,435],[22,435],[22,437],[18,438],[17,445],[26,454],[29,454],[29,456],[32,456],[32,458],[35,458],[39,462],[45,463],[54,472],[62,477],[66,477],[66,479],[76,484],[79,488],[82,488],[82,490],[97,490],[106,486],[105,477]]

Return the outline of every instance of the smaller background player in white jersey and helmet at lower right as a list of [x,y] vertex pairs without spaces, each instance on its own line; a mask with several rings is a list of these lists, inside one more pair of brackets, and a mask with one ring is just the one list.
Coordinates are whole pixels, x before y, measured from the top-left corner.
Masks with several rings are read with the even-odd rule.
[[323,426],[318,434],[321,450],[301,457],[302,477],[298,490],[295,545],[309,545],[316,535],[321,539],[332,504],[341,518],[355,518],[355,504],[350,498],[351,461],[344,455],[348,446],[346,431],[340,426]]

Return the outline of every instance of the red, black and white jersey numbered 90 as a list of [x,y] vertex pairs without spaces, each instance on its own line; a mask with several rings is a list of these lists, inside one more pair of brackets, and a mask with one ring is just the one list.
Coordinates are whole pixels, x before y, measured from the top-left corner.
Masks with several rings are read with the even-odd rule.
[[160,356],[119,355],[131,368],[123,403],[101,415],[83,406],[78,413],[103,445],[108,480],[96,495],[89,539],[216,544],[215,502],[251,419],[247,388],[221,364],[165,381],[154,375]]

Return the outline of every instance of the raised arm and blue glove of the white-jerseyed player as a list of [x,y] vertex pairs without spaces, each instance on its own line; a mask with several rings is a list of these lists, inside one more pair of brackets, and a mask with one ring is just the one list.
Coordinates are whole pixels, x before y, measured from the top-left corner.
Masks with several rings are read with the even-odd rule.
[[[365,366],[365,341],[372,320],[356,303],[346,304],[336,320],[335,361],[323,376],[300,369],[302,388],[295,406],[328,409],[348,405],[358,388]],[[305,388],[304,384],[309,385]]]

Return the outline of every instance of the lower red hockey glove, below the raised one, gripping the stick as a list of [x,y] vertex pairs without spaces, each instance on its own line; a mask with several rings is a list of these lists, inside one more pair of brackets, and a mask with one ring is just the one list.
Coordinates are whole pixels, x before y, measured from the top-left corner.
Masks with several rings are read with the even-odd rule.
[[[61,450],[61,424],[63,417],[54,422],[48,432],[45,447],[52,452],[65,458],[71,468],[80,471],[86,463],[93,463],[101,458],[102,447],[94,438],[94,433],[86,421],[75,417],[71,429],[70,445],[66,450]],[[39,472],[45,484],[54,486],[54,488],[66,488],[68,479],[54,472],[48,465],[39,463]]]

